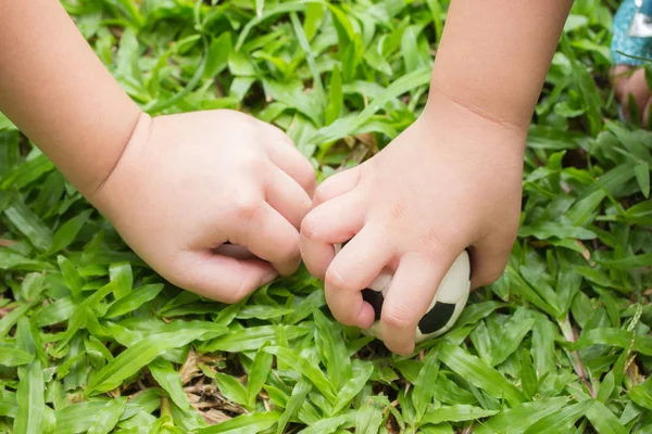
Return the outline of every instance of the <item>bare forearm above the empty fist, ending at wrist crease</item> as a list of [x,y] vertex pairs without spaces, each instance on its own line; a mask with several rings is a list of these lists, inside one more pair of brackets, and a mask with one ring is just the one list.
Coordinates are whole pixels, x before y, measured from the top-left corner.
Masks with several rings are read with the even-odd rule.
[[84,194],[140,116],[58,0],[0,1],[0,111]]

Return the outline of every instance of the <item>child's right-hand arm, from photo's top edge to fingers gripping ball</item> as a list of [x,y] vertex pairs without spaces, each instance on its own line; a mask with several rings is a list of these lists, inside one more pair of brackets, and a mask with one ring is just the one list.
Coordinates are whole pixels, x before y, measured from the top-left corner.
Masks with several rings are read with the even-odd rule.
[[[471,247],[474,288],[497,280],[516,238],[530,116],[572,0],[452,0],[429,101],[368,162],[326,180],[301,228],[302,256],[346,324],[368,328],[360,291],[394,278],[381,317],[409,354],[443,275]],[[333,244],[350,241],[337,257]]]

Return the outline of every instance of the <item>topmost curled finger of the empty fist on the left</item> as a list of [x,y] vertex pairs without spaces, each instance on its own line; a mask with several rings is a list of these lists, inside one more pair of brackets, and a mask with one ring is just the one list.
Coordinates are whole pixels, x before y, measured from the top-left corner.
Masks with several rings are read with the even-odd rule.
[[312,197],[317,187],[313,165],[285,132],[269,124],[265,124],[264,128],[269,132],[264,145],[272,163],[288,174]]

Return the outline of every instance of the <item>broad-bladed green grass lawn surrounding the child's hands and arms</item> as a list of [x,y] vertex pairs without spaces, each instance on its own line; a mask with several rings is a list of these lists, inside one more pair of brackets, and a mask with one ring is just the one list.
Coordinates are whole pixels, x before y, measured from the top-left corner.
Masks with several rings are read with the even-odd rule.
[[[415,120],[447,4],[66,2],[151,114],[248,111],[319,179]],[[413,357],[304,269],[234,306],[166,284],[0,115],[0,432],[652,433],[652,135],[617,120],[611,13],[575,2],[503,277]]]

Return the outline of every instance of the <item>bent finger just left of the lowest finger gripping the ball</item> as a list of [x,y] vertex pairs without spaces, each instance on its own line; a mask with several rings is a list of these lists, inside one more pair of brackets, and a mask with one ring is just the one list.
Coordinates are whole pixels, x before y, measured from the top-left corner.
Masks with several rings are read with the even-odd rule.
[[333,316],[343,324],[368,329],[374,323],[374,308],[363,301],[361,291],[376,281],[391,259],[391,248],[383,232],[365,226],[326,270],[326,302]]

